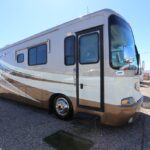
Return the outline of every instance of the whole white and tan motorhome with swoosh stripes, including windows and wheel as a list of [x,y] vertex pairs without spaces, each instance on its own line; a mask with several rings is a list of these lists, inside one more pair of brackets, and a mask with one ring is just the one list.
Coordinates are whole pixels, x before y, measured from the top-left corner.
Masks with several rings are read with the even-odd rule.
[[130,25],[104,9],[0,50],[0,96],[108,125],[140,109],[139,54]]

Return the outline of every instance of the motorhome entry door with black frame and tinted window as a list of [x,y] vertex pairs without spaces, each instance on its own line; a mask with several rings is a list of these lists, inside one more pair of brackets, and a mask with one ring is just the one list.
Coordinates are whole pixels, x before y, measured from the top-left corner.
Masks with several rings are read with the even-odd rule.
[[104,110],[103,29],[77,33],[77,106]]

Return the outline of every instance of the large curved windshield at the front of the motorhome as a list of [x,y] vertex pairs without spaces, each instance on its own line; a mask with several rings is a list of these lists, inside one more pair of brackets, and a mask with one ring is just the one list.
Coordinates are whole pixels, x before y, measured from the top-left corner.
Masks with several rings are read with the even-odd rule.
[[137,69],[134,37],[130,26],[121,18],[109,18],[110,63],[115,69]]

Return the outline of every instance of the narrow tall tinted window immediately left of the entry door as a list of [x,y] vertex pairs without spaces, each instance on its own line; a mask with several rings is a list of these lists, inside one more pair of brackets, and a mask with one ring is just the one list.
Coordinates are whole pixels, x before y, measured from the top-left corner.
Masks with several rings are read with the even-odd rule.
[[70,36],[65,39],[65,65],[75,64],[75,37]]

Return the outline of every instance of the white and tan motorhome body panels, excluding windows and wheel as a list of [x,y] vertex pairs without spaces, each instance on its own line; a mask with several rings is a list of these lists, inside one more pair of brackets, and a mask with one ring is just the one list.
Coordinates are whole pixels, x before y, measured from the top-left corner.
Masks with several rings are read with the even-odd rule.
[[[141,93],[135,70],[116,70],[110,66],[108,18],[120,15],[112,10],[88,14],[0,50],[0,95],[49,109],[55,95],[70,99],[73,111],[100,115],[106,124],[123,124],[139,108]],[[93,34],[94,33],[94,34]],[[79,63],[79,40],[86,35],[98,36],[99,60]],[[64,40],[76,38],[75,63],[64,63]],[[46,44],[47,61],[29,65],[29,49]],[[24,55],[22,63],[17,56]],[[103,55],[103,56],[102,56]],[[102,58],[103,57],[103,58]],[[103,62],[102,62],[102,61]],[[131,105],[122,100],[132,97]],[[115,118],[114,118],[115,117]]]

